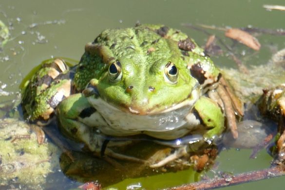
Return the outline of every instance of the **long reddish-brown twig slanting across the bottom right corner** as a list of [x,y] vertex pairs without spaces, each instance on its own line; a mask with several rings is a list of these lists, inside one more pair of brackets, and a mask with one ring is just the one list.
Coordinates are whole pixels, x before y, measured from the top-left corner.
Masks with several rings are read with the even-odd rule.
[[221,187],[228,187],[238,185],[242,183],[248,183],[252,181],[258,181],[263,179],[269,179],[273,177],[279,177],[285,175],[285,171],[280,166],[274,166],[269,169],[260,171],[251,171],[240,173],[237,175],[224,175],[205,181],[191,183],[179,187],[174,187],[168,190],[209,190]]

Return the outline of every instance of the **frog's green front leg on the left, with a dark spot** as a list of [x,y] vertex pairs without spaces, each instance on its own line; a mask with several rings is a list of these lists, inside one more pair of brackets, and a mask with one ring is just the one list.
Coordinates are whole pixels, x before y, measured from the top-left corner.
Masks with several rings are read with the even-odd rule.
[[97,126],[106,125],[106,121],[81,93],[70,95],[57,106],[57,122],[64,135],[76,142],[84,143],[97,156],[107,155],[122,160],[144,162],[132,156],[113,152],[108,147],[104,148],[104,142],[108,139],[98,131]]

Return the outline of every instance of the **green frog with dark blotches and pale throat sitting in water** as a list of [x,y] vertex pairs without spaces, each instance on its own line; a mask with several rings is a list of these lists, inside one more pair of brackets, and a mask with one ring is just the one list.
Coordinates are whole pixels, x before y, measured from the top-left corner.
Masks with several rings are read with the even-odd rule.
[[[213,139],[225,129],[223,111],[206,95],[215,89],[220,72],[203,49],[178,30],[163,25],[105,30],[85,46],[76,66],[42,88],[44,82],[39,81],[51,62],[22,83],[24,115],[32,122],[49,120],[56,109],[62,133],[91,151],[100,152],[105,135],[145,133],[176,139],[201,134]],[[51,106],[61,86],[67,95]],[[174,111],[179,114],[173,128],[158,124]]]

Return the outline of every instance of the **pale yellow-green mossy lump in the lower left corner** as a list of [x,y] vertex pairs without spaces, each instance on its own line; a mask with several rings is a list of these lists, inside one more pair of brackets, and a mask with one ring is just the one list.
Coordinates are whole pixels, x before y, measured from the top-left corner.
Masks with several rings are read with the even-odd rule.
[[0,120],[0,187],[11,180],[39,189],[46,176],[58,168],[58,149],[51,143],[39,145],[37,135],[23,121]]

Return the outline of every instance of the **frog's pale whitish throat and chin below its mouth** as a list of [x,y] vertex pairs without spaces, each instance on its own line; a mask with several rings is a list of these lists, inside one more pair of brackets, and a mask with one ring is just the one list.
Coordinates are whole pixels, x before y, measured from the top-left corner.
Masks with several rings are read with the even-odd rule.
[[[179,104],[162,111],[154,110],[149,114],[134,114],[133,110],[118,109],[100,97],[91,96],[88,97],[88,100],[106,122],[103,125],[96,126],[104,134],[119,136],[146,133],[157,138],[171,139],[189,132],[188,129],[180,130],[181,134],[171,134],[171,131],[179,131],[179,128],[185,128],[185,125],[189,124],[186,116],[191,114],[193,105],[199,96],[200,91],[195,89],[189,98]],[[165,132],[168,134],[164,134]]]

